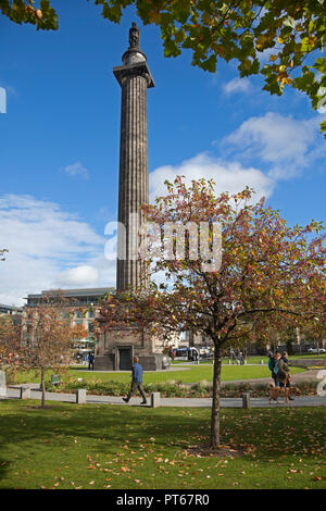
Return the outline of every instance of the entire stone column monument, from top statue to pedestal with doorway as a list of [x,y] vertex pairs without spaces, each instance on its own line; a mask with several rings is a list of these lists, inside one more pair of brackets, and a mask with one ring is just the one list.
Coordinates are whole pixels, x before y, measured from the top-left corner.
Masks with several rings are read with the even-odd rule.
[[[147,89],[154,87],[147,58],[139,49],[139,28],[129,30],[129,48],[123,65],[113,68],[122,88],[118,183],[118,232],[116,294],[147,287],[149,278],[138,260],[140,205],[149,202]],[[124,258],[122,258],[124,253]],[[145,275],[145,278],[143,278]],[[110,328],[99,337],[95,370],[130,370],[133,357],[139,357],[145,370],[166,367],[162,347],[148,332],[137,327]]]

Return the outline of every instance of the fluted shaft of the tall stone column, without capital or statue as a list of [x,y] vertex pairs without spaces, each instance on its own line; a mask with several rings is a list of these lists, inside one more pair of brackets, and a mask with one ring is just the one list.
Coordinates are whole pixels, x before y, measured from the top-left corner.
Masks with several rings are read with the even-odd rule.
[[[117,260],[116,289],[136,289],[143,285],[143,265],[138,260],[140,205],[148,203],[148,80],[131,73],[122,79],[118,244],[125,239],[125,260]],[[134,214],[134,216],[130,216]],[[137,216],[136,216],[137,215]],[[137,217],[138,222],[135,222]],[[121,224],[124,226],[121,227]],[[138,224],[138,225],[137,225]],[[123,237],[125,238],[123,239]],[[142,267],[141,267],[142,266]]]

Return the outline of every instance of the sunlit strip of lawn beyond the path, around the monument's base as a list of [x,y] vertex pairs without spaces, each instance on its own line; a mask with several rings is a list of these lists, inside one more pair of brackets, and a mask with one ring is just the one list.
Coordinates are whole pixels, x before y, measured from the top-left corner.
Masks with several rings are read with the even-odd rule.
[[[303,370],[293,367],[293,373],[300,373]],[[49,371],[47,378],[50,381],[53,371]],[[230,382],[235,379],[253,379],[253,378],[267,378],[271,376],[271,371],[266,365],[224,365],[222,369],[222,381]],[[83,378],[85,382],[130,382],[130,372],[112,372],[102,373],[98,371],[88,371],[87,367],[70,369],[66,374],[62,376],[63,381],[70,378]],[[176,371],[166,372],[145,372],[143,383],[159,383],[168,382],[171,379],[180,381],[183,383],[197,383],[202,379],[211,382],[213,378],[213,365],[185,365]],[[17,375],[18,383],[38,383],[39,375],[35,372],[22,373]]]

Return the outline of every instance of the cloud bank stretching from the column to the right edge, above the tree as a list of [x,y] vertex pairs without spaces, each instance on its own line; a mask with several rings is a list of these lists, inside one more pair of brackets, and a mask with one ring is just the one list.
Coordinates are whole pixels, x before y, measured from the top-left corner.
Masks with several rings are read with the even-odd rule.
[[213,178],[216,192],[240,191],[249,186],[254,200],[271,197],[279,179],[293,178],[326,153],[318,134],[321,115],[297,120],[267,112],[252,116],[238,129],[213,146],[223,154],[216,158],[202,152],[178,165],[165,165],[150,174],[150,201],[165,195],[164,180],[184,175],[186,182]]

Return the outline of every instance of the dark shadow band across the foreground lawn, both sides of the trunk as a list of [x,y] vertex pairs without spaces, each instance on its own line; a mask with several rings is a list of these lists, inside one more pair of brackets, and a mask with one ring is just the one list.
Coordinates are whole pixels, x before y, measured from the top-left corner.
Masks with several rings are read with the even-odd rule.
[[[2,410],[1,410],[2,409]],[[7,452],[33,457],[38,448],[52,457],[55,450],[85,448],[101,454],[117,456],[128,441],[128,448],[154,446],[181,451],[193,445],[206,445],[210,434],[210,410],[108,404],[51,403],[40,409],[39,401],[0,401],[0,476],[10,466]],[[322,409],[223,410],[222,444],[254,446],[256,459],[267,461],[273,454],[293,456],[312,446],[313,429],[319,435],[314,446],[323,443],[325,411]],[[306,426],[313,425],[313,427]],[[309,429],[310,427],[310,429]],[[306,436],[309,429],[310,436]],[[283,441],[279,441],[281,435]],[[277,440],[275,440],[277,438]],[[73,446],[73,447],[72,447]],[[322,447],[322,444],[321,446]]]

